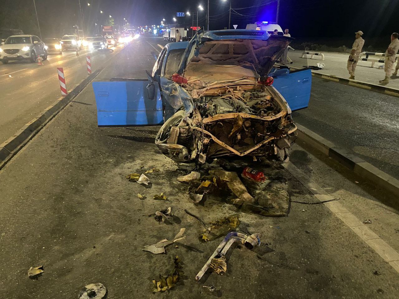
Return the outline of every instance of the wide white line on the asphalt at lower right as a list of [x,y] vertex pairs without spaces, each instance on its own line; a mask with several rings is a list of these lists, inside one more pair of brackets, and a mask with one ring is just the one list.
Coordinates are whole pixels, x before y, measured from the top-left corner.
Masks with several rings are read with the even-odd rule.
[[[284,163],[284,168],[287,169],[300,183],[302,183],[313,195],[320,201],[333,200],[334,197],[328,195],[324,189],[314,183],[308,178],[302,171],[300,171],[291,162]],[[313,185],[316,188],[309,188],[308,186]],[[317,190],[317,191],[314,191]],[[318,191],[324,194],[318,194]],[[363,240],[371,249],[374,250],[385,262],[392,266],[399,273],[399,253],[393,249],[389,244],[382,240],[377,234],[370,230],[365,224],[363,224],[354,214],[349,212],[344,206],[338,201],[329,201],[324,205],[330,209],[330,211],[339,218],[346,226],[348,226],[355,234]]]

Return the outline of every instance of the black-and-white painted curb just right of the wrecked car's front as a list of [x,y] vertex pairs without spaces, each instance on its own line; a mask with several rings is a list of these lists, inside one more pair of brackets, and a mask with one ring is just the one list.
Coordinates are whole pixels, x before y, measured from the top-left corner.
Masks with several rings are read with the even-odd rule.
[[348,169],[361,177],[373,181],[375,185],[399,196],[399,181],[377,167],[364,161],[352,153],[336,146],[308,128],[298,126],[298,142],[304,142],[310,147],[321,151],[324,155],[346,166]]

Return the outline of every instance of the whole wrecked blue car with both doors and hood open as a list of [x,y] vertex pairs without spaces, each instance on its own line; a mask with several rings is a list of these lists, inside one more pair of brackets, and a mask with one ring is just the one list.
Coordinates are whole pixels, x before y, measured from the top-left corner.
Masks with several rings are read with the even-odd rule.
[[199,31],[162,49],[148,80],[94,82],[99,126],[160,125],[176,161],[273,156],[296,139],[291,118],[310,99],[310,69],[275,66],[292,38],[259,30]]

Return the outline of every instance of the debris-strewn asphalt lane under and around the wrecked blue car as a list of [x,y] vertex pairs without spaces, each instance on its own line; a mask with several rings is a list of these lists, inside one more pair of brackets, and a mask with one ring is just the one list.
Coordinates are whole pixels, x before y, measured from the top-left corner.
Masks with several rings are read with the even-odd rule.
[[[140,38],[111,58],[95,80],[145,78],[157,43]],[[398,272],[325,205],[294,202],[313,202],[314,196],[288,172],[288,217],[243,213],[216,197],[193,205],[176,181],[185,170],[154,145],[158,128],[98,128],[88,85],[0,170],[2,297],[77,298],[84,285],[100,282],[108,299],[209,298],[203,285],[221,287],[213,295],[225,298],[397,298]],[[358,219],[371,219],[367,227],[399,250],[397,212],[366,193],[355,177],[347,179],[297,145],[291,161]],[[148,174],[148,187],[124,177],[152,167],[158,170]],[[152,199],[161,192],[168,201]],[[165,207],[180,222],[158,224],[149,216]],[[237,247],[226,275],[211,273],[196,282],[221,239],[199,242],[203,228],[184,209],[206,223],[238,213],[240,230],[261,234],[259,251]],[[141,250],[173,238],[182,227],[186,239],[166,254]],[[152,279],[173,272],[176,255],[184,262],[182,281],[170,292],[152,294]],[[29,279],[28,269],[40,265],[43,275]]]

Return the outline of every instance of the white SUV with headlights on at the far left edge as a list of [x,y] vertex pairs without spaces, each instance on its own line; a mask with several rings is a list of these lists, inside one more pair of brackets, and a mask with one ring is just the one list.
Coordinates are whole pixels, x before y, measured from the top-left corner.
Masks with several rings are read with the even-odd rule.
[[11,35],[0,46],[0,61],[6,64],[10,60],[30,59],[35,62],[38,59],[47,59],[47,50],[43,41],[36,35]]

